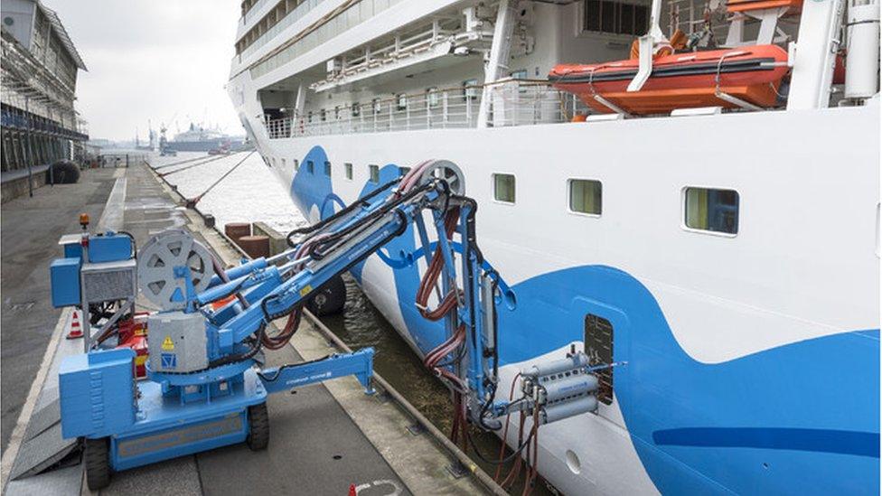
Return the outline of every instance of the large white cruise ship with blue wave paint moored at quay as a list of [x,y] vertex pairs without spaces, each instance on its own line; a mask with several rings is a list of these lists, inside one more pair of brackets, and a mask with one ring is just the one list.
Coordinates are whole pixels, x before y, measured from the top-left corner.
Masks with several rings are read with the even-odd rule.
[[[227,90],[308,220],[451,161],[499,390],[573,346],[617,364],[540,427],[557,491],[879,492],[877,0],[241,9]],[[352,275],[426,354],[417,238]]]

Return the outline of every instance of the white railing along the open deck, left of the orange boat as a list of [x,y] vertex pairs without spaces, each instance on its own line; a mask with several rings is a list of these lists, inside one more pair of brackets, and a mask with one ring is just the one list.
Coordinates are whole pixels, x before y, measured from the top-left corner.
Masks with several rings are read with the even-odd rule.
[[491,99],[487,125],[532,126],[569,122],[588,109],[544,80],[500,80],[490,85],[430,89],[305,115],[265,120],[270,139],[475,127],[484,89]]

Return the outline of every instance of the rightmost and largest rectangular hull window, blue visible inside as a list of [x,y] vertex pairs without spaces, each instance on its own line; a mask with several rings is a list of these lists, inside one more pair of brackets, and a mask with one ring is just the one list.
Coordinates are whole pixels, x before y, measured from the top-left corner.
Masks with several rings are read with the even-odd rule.
[[690,229],[738,233],[739,195],[735,190],[686,188],[685,221]]

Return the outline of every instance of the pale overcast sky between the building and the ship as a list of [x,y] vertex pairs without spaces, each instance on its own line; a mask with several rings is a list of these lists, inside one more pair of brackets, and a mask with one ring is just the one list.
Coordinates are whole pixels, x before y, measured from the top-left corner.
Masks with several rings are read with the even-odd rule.
[[[147,136],[147,119],[168,137],[190,122],[244,135],[223,85],[239,0],[42,0],[61,17],[86,62],[77,108],[89,136]],[[175,124],[176,123],[176,124]]]

